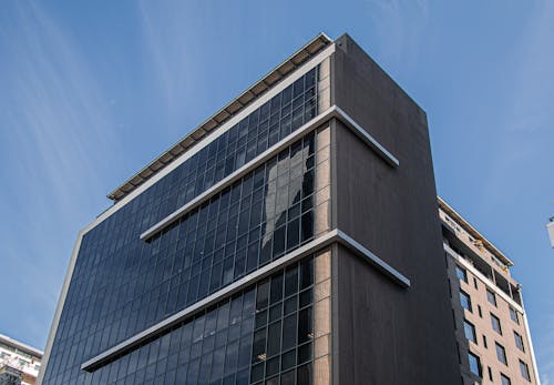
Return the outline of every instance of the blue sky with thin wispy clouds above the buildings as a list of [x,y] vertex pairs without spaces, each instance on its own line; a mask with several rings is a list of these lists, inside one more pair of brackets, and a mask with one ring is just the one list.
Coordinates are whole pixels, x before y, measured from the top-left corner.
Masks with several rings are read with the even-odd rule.
[[4,1],[0,333],[47,341],[105,194],[319,31],[427,111],[438,191],[515,263],[554,384],[554,2]]

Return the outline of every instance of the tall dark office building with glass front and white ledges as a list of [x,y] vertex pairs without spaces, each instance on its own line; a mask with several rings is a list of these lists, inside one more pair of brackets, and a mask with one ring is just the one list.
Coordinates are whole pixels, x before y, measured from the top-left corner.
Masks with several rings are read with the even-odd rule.
[[425,113],[348,36],[109,197],[43,384],[460,384]]

